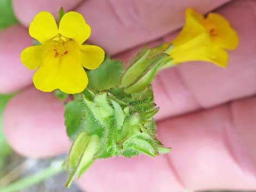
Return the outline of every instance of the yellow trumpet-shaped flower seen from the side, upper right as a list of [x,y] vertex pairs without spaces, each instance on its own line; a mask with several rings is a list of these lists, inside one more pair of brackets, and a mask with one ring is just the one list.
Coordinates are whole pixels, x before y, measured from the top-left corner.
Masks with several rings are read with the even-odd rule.
[[225,67],[228,63],[225,49],[235,49],[238,41],[235,30],[221,15],[210,13],[205,18],[188,8],[186,23],[172,41],[173,48],[168,54],[173,64],[201,60]]

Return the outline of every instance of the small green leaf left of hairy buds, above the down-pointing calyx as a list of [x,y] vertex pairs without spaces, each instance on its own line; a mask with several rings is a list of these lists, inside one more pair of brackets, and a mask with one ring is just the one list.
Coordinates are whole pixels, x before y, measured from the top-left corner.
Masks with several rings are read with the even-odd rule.
[[84,131],[86,112],[84,111],[84,103],[81,99],[76,99],[65,104],[65,126],[66,133],[70,140],[74,140],[76,136]]

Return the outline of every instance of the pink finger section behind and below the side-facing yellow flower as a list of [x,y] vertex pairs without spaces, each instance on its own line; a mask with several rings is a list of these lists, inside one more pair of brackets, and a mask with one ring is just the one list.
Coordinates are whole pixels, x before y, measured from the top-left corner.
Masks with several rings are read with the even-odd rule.
[[[235,1],[217,11],[228,18],[240,38],[237,49],[229,54],[226,69],[210,63],[191,62],[163,70],[157,75],[153,83],[155,101],[160,106],[157,119],[209,108],[256,93],[255,9],[255,1]],[[175,35],[167,35],[164,40],[170,41]],[[163,40],[149,46],[160,44],[160,41]],[[140,48],[116,58],[127,62]]]

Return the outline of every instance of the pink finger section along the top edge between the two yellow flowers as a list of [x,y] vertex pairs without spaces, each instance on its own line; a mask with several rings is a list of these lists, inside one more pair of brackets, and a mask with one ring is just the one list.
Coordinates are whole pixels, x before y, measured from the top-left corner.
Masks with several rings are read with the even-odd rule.
[[77,9],[92,27],[90,40],[109,54],[159,38],[184,23],[187,7],[206,13],[228,0],[217,1],[85,1]]

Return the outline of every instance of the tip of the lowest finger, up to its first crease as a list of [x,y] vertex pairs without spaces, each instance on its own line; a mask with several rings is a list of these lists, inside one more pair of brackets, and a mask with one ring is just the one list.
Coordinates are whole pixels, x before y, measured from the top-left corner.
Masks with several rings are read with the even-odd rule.
[[182,191],[164,156],[99,159],[78,180],[85,191]]

